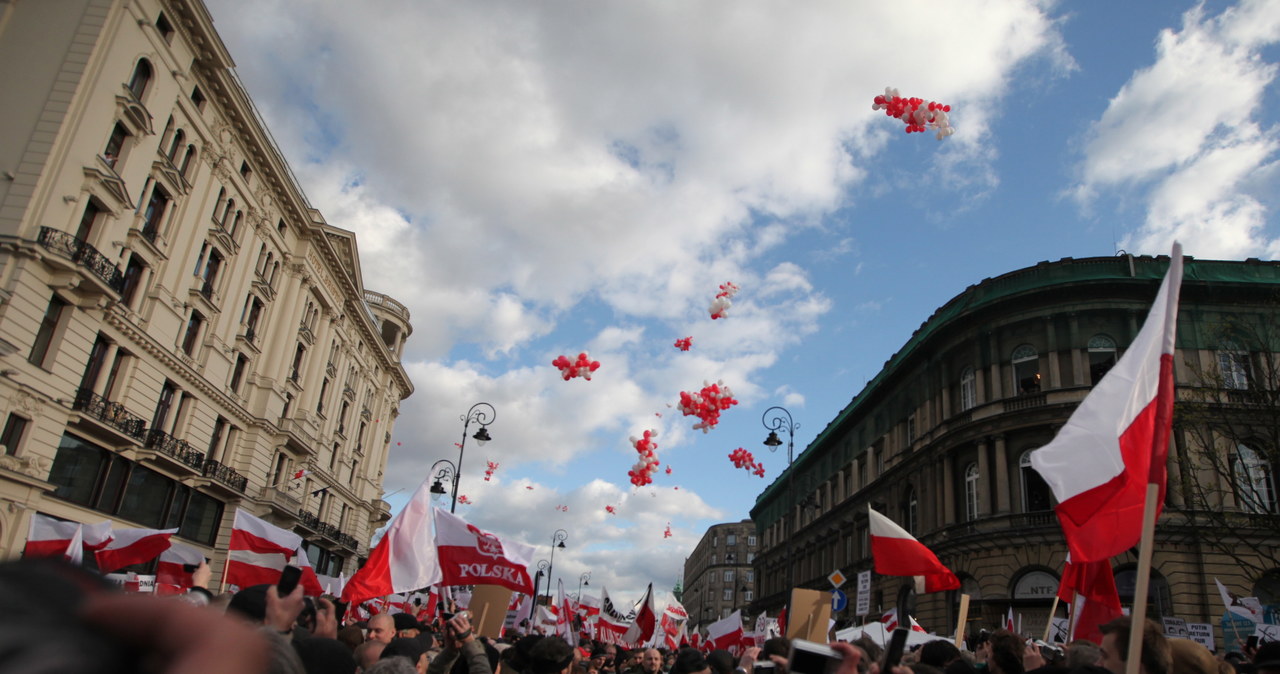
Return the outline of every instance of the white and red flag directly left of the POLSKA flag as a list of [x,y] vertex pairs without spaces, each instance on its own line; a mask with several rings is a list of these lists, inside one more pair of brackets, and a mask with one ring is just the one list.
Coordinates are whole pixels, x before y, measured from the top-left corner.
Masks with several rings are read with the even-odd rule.
[[392,519],[387,533],[369,553],[369,561],[347,581],[342,600],[360,602],[439,582],[440,563],[431,545],[431,485],[428,478]]

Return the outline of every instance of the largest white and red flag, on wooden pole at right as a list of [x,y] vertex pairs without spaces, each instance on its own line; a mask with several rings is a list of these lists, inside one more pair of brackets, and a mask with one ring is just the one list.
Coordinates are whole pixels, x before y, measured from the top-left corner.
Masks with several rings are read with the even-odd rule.
[[1073,561],[1101,561],[1138,545],[1147,485],[1165,501],[1165,463],[1174,417],[1174,338],[1183,283],[1183,247],[1138,336],[1071,413],[1032,466],[1057,498],[1057,519]]

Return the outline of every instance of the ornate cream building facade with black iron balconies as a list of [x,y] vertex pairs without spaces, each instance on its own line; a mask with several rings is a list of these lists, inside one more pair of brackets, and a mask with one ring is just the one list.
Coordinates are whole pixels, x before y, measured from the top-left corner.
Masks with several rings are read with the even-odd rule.
[[44,513],[178,527],[218,572],[243,508],[349,574],[389,518],[408,311],[206,8],[0,1],[0,555]]

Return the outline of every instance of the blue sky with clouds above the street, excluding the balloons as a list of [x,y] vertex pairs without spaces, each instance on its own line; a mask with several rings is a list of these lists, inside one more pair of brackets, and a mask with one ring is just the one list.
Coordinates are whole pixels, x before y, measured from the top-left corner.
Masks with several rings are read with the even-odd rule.
[[[785,467],[764,409],[803,450],[970,284],[1174,238],[1280,253],[1277,0],[209,5],[366,286],[412,312],[389,500],[489,402],[460,513],[541,556],[566,528],[567,586],[669,588]],[[904,134],[886,86],[956,134]],[[600,370],[561,380],[580,350]],[[704,380],[740,400],[709,434],[668,407]],[[673,472],[632,489],[645,428]]]

